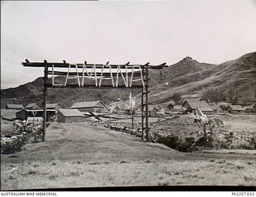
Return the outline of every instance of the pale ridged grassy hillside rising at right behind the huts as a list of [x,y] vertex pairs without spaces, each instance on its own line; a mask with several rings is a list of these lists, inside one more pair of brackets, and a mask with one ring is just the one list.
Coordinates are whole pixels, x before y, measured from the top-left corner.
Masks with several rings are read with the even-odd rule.
[[252,102],[256,87],[256,53],[248,53],[234,61],[226,61],[211,68],[209,66],[202,71],[170,77],[150,89],[150,100],[153,103],[162,103],[170,100],[174,93],[202,93],[210,87],[222,89],[224,92],[235,88],[241,103]]

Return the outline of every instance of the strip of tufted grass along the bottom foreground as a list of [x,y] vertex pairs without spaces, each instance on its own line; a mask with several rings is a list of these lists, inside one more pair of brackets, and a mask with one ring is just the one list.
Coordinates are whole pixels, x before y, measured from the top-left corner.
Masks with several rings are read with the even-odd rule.
[[[1,165],[1,189],[155,185],[256,185],[256,161],[144,160],[119,163],[53,160]],[[118,172],[118,173],[117,173]]]

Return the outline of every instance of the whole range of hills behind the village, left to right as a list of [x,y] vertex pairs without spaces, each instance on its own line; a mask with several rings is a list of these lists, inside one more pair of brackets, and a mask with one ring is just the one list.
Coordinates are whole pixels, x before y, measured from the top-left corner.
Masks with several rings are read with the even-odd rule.
[[[58,81],[58,77],[56,77]],[[61,81],[62,82],[62,81]],[[28,104],[42,102],[42,77],[14,89],[1,90],[1,107],[6,103]],[[190,57],[162,70],[150,70],[150,103],[169,102],[174,93],[183,98],[197,95],[210,88],[230,88],[238,90],[241,104],[250,104],[255,100],[256,87],[256,53],[247,53],[233,61],[220,65],[199,63]],[[70,107],[76,101],[102,100],[106,104],[126,100],[130,89],[48,89],[47,100],[50,103],[60,102]],[[141,89],[133,89],[133,95],[139,95]]]

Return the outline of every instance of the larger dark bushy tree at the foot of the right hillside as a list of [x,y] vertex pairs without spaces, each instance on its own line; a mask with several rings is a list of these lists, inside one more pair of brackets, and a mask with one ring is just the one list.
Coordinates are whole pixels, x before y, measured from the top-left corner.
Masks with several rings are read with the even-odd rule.
[[224,100],[225,94],[221,89],[210,88],[202,93],[201,100],[206,100],[207,102],[218,104],[219,101]]

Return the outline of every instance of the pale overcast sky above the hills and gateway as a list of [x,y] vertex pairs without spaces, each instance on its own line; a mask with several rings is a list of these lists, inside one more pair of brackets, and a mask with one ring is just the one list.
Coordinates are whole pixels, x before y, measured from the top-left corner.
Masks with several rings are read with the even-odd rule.
[[1,1],[1,89],[43,75],[22,61],[220,64],[256,51],[256,1]]

